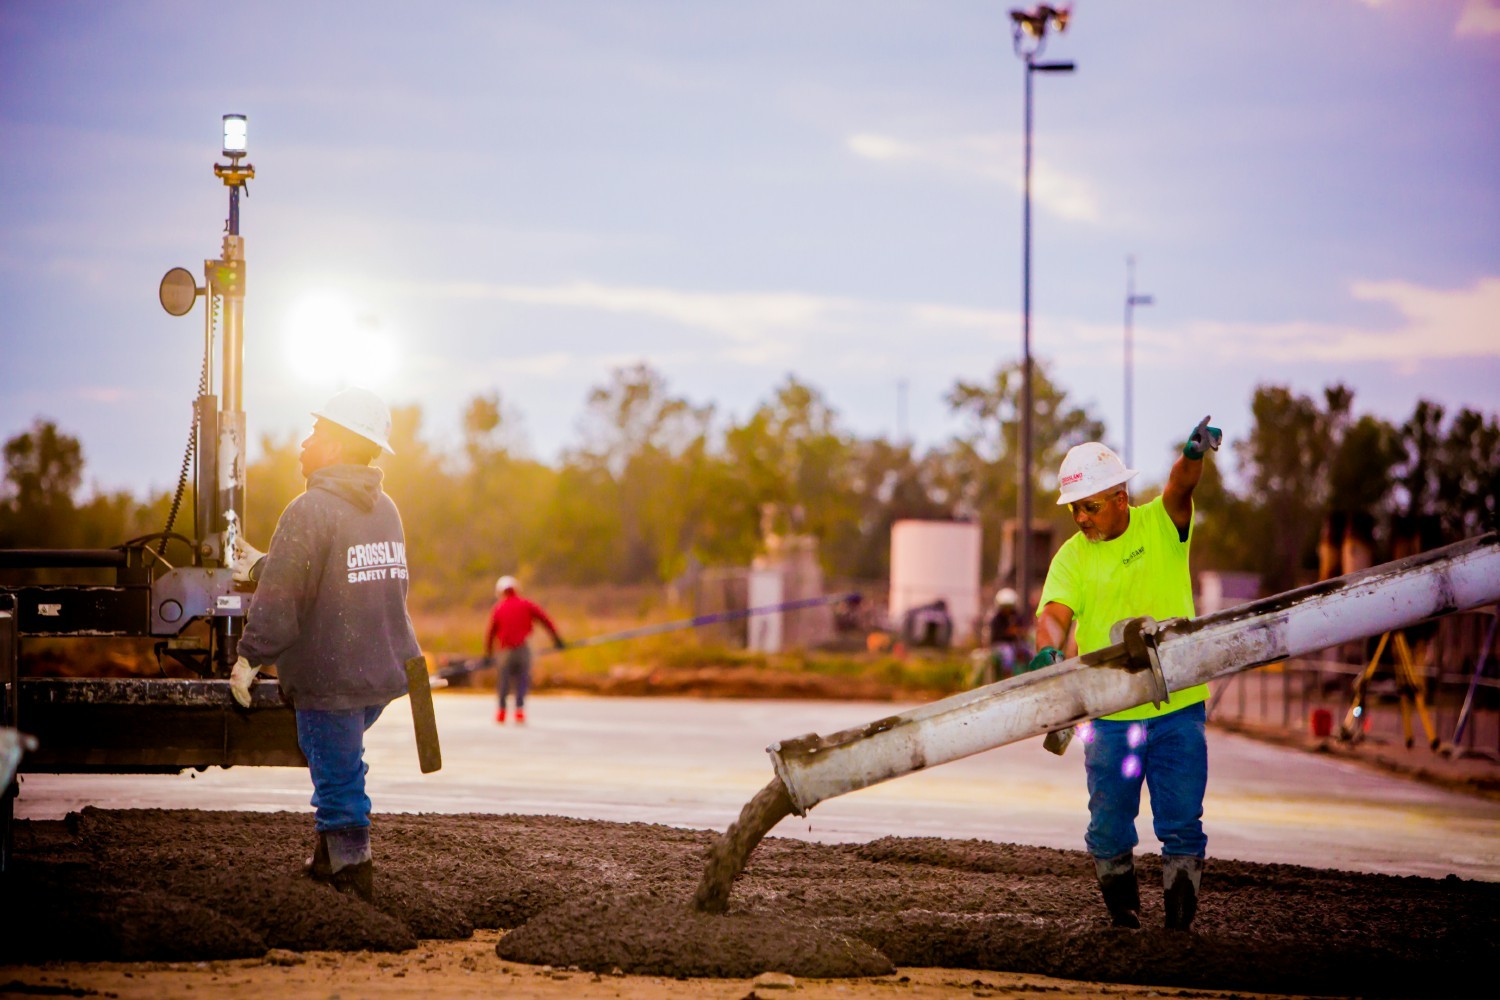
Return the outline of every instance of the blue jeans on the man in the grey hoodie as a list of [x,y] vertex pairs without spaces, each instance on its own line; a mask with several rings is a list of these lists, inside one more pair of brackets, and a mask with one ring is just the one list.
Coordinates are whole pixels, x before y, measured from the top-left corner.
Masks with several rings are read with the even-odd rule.
[[384,705],[332,712],[297,709],[297,745],[312,775],[314,826],[318,832],[370,825],[370,799],[364,795],[364,730],[375,724]]

